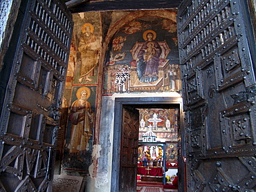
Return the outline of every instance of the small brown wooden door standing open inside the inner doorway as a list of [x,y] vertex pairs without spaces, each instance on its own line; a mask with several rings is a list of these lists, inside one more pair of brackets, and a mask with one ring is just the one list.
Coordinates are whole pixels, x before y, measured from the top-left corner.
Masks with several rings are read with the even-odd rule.
[[136,191],[139,132],[138,118],[138,110],[127,107],[123,108],[120,146],[120,192]]

